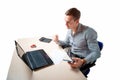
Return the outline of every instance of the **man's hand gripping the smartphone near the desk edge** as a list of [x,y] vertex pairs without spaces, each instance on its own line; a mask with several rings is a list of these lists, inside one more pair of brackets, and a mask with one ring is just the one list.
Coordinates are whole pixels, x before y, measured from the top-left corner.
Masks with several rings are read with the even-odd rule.
[[69,63],[72,68],[80,68],[86,61],[80,58],[72,58],[73,63]]

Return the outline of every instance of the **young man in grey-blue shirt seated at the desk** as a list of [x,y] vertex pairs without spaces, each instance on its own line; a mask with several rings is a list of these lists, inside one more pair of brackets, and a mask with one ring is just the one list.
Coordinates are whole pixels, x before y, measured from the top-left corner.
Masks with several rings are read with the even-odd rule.
[[80,21],[81,13],[77,8],[70,8],[65,13],[65,22],[68,28],[65,41],[61,41],[58,35],[54,41],[60,46],[71,46],[70,55],[73,63],[72,68],[79,68],[87,77],[90,66],[100,57],[100,49],[97,42],[97,32]]

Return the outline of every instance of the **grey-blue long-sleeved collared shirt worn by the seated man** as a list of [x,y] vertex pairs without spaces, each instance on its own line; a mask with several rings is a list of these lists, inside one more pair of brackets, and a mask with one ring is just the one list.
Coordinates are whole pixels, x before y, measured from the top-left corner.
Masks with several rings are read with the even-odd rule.
[[100,57],[100,49],[97,42],[97,32],[85,25],[79,24],[77,32],[73,35],[68,29],[65,41],[58,41],[59,45],[70,45],[71,52],[84,57],[86,63],[92,63]]

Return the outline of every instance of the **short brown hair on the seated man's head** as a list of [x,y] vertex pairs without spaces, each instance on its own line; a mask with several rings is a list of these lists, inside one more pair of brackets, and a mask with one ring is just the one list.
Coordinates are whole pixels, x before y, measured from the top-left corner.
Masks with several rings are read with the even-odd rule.
[[74,20],[77,20],[81,16],[81,12],[77,8],[70,8],[65,12],[65,15],[73,16]]

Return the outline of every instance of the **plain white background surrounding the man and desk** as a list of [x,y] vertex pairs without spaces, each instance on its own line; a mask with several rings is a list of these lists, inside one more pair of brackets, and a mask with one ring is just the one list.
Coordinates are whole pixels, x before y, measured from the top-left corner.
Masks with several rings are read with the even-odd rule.
[[6,80],[14,40],[54,34],[63,39],[64,13],[71,7],[81,11],[80,22],[94,28],[104,43],[88,80],[120,80],[119,0],[0,0],[0,80]]

